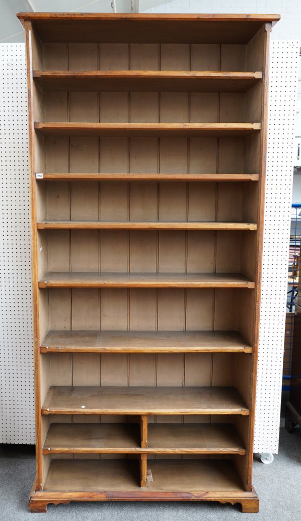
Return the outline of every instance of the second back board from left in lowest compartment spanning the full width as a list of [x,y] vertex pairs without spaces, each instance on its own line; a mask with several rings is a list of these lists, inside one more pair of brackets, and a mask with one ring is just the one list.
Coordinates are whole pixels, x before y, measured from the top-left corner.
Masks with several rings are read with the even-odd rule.
[[97,353],[73,353],[72,383],[74,386],[99,386],[100,355]]

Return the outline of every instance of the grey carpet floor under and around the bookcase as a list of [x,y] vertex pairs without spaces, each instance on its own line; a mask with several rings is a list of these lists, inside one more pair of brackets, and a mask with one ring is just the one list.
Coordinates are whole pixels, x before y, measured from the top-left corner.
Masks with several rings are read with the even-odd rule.
[[256,521],[301,520],[301,429],[288,434],[280,429],[279,454],[273,463],[254,461],[254,486],[260,499],[259,514],[242,514],[239,506],[220,503],[103,502],[49,505],[47,514],[28,512],[28,494],[34,477],[32,446],[0,445],[1,521]]

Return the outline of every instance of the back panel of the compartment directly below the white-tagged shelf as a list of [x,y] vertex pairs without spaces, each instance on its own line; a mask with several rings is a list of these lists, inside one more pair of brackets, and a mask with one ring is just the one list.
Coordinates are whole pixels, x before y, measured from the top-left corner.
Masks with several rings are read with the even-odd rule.
[[251,207],[256,195],[254,182],[45,184],[38,193],[40,220],[257,221]]

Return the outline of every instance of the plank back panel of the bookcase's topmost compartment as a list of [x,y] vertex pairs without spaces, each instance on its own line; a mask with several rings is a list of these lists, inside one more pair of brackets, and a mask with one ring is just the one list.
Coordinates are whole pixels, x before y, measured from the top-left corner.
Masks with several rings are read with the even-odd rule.
[[260,56],[251,58],[246,44],[45,43],[42,54],[43,70],[245,71],[262,67]]

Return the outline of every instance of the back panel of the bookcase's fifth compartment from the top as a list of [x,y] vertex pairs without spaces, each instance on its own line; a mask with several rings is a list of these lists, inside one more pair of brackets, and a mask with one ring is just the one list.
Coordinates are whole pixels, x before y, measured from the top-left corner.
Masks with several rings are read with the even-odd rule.
[[[253,234],[254,240],[244,240],[246,234]],[[255,232],[149,230],[142,238],[139,230],[47,230],[39,235],[45,243],[39,257],[44,261],[47,256],[47,263],[42,262],[47,269],[41,276],[46,271],[243,272],[254,276]]]

